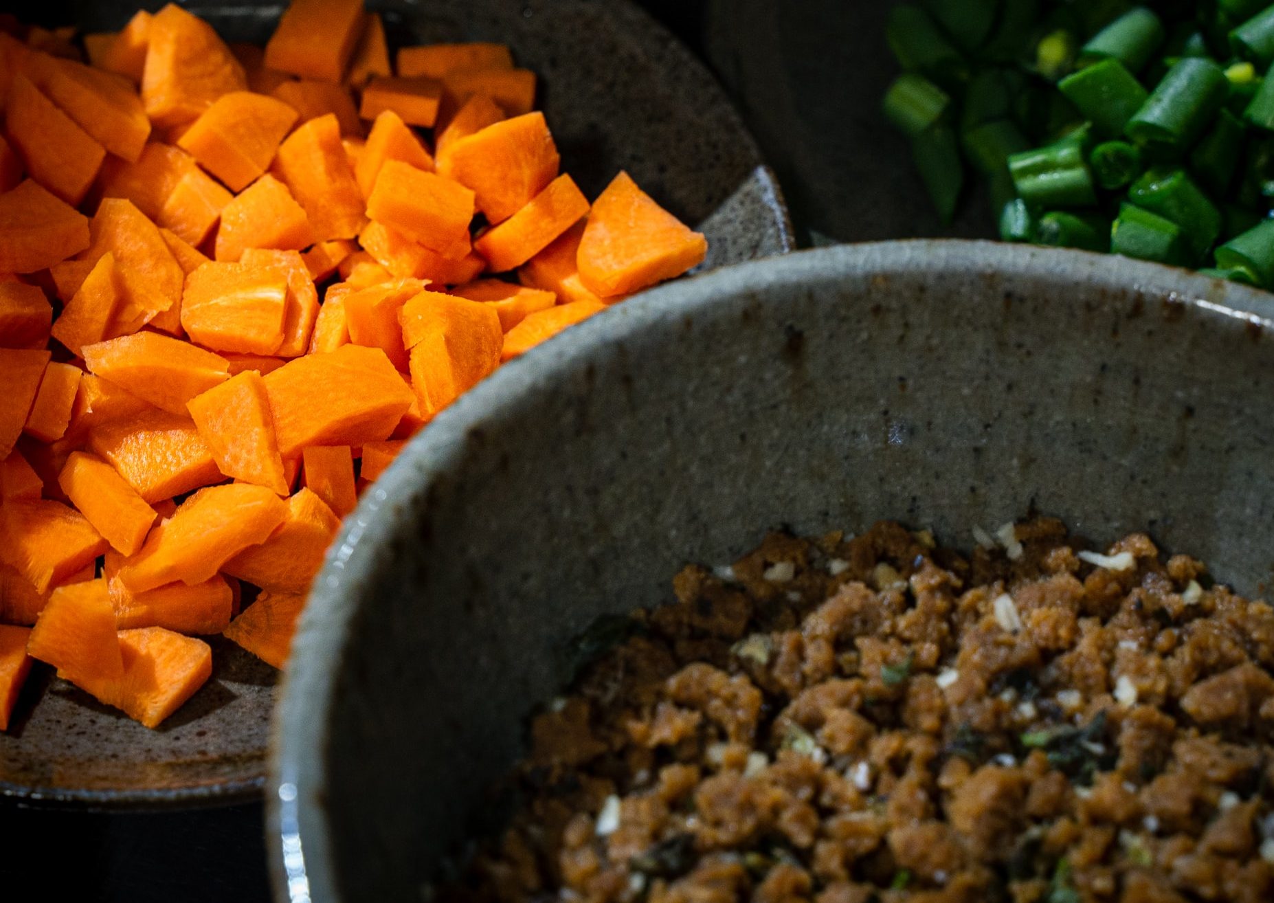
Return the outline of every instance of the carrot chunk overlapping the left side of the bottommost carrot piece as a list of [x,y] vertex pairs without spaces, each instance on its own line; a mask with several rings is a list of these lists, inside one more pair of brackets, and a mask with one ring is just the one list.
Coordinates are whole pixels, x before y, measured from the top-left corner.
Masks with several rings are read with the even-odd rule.
[[48,662],[73,683],[118,678],[124,658],[115,633],[115,609],[104,579],[54,590],[27,639],[27,652]]

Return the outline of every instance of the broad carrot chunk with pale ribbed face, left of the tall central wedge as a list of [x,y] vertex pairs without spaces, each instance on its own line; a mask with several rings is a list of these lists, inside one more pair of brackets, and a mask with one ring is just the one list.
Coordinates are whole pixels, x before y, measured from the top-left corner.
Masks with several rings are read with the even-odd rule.
[[225,479],[195,423],[154,408],[94,425],[88,446],[149,504]]

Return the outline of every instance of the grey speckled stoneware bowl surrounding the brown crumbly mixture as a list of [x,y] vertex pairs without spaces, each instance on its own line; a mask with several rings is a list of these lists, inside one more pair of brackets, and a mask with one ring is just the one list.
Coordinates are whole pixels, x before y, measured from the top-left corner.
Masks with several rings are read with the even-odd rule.
[[772,527],[899,518],[968,549],[1034,509],[1257,591],[1271,394],[1274,298],[1073,251],[806,251],[585,322],[440,415],[347,522],[275,721],[279,899],[420,899],[489,827],[569,638]]

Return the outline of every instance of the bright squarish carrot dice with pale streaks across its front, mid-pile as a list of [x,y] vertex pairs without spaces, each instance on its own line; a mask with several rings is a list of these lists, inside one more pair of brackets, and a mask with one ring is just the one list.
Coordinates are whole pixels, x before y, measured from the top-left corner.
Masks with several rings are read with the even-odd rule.
[[287,307],[288,276],[278,267],[209,261],[186,276],[181,325],[192,341],[214,352],[274,354],[283,343]]

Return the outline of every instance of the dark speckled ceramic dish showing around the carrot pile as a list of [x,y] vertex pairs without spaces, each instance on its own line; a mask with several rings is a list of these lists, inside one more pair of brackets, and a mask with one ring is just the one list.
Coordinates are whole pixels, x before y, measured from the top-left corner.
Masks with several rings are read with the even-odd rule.
[[[158,5],[158,4],[153,4]],[[563,166],[594,196],[628,169],[670,210],[703,223],[705,267],[790,250],[782,199],[720,88],[659,25],[608,0],[371,4],[395,43],[505,41],[541,76]],[[135,3],[15,10],[117,28]],[[280,6],[192,4],[229,39],[264,42]],[[61,680],[37,679],[0,734],[0,796],[32,805],[157,807],[257,796],[275,671],[215,643],[213,679],[149,731]],[[45,676],[45,675],[39,675]],[[37,704],[38,703],[38,704]]]

